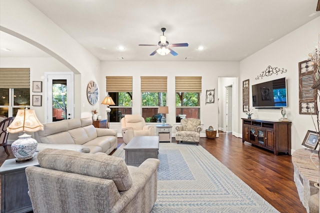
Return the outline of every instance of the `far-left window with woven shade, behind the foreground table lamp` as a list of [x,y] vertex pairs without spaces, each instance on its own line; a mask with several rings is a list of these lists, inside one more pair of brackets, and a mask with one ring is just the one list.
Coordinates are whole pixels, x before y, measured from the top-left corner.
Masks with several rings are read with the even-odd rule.
[[15,116],[25,107],[30,107],[30,69],[0,68],[0,115]]

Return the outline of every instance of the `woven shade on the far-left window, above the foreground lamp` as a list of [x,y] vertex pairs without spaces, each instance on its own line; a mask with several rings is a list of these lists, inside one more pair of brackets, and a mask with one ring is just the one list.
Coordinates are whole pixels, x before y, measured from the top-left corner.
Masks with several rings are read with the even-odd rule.
[[30,88],[30,68],[0,68],[0,88]]

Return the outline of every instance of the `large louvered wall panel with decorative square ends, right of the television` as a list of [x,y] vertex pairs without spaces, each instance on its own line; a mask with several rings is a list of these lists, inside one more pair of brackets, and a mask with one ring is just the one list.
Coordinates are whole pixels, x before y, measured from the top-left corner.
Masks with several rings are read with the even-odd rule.
[[299,114],[316,114],[316,88],[314,84],[314,66],[312,61],[299,62]]

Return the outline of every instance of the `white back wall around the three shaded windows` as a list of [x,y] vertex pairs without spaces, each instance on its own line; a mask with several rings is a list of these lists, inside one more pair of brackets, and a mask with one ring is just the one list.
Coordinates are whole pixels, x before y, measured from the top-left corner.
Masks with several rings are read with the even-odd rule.
[[[175,76],[202,76],[200,116],[203,124],[201,136],[205,136],[205,129],[210,125],[214,128],[218,126],[218,76],[221,73],[223,73],[223,76],[238,76],[238,66],[239,62],[237,61],[101,61],[99,85],[105,85],[104,76],[106,75],[132,76],[132,113],[141,113],[140,76],[167,76],[167,105],[169,106],[169,113],[167,114],[166,122],[174,125]],[[214,88],[214,103],[205,104],[205,91]],[[237,94],[237,91],[235,94]],[[238,101],[236,100],[235,107],[237,107],[237,104]],[[102,110],[104,110],[104,106],[100,107],[100,111]],[[238,119],[238,116],[235,115],[234,119]],[[118,132],[120,132],[119,124],[111,123],[110,127],[118,128]],[[238,127],[236,126],[236,128]],[[175,133],[174,126],[172,132]]]

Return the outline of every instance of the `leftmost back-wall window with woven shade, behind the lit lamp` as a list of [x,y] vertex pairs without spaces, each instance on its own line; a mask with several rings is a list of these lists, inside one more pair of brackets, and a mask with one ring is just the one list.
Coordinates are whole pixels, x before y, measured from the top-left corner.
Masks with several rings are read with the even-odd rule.
[[115,105],[111,106],[110,122],[119,122],[132,114],[132,76],[106,76],[106,91]]

